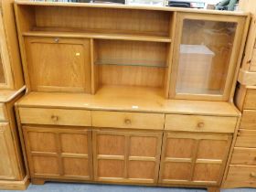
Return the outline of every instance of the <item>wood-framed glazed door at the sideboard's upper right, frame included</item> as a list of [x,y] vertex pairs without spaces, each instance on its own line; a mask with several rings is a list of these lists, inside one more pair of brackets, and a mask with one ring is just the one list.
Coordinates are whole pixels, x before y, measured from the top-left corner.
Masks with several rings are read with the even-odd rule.
[[[177,99],[227,100],[239,53],[240,22],[218,16],[178,16],[173,96]],[[242,31],[242,30],[240,30]],[[235,54],[235,52],[237,52]],[[225,96],[226,95],[226,96]],[[226,98],[225,98],[226,97]],[[215,99],[214,99],[215,98]]]

